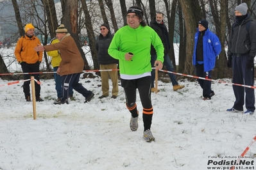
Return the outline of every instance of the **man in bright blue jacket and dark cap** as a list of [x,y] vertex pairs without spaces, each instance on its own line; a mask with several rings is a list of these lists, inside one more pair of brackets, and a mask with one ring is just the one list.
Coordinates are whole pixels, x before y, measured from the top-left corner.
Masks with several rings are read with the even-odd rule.
[[[208,29],[207,20],[200,20],[197,30],[196,35],[194,35],[192,62],[196,66],[196,76],[211,79],[216,57],[221,52],[221,43],[218,36]],[[215,95],[211,89],[211,81],[198,79],[198,82],[203,89],[203,100],[210,100]]]

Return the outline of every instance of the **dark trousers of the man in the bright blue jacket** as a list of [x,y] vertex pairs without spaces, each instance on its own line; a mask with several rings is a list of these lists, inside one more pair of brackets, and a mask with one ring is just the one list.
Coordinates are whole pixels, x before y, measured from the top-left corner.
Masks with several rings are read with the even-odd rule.
[[[203,64],[196,64],[196,76],[198,77],[206,77],[206,72],[204,71]],[[212,71],[208,72],[208,79],[211,79],[211,73]],[[198,83],[200,84],[201,88],[203,89],[203,97],[205,98],[210,98],[210,93],[213,93],[211,86],[212,82],[211,81],[205,81],[203,79],[198,79]]]

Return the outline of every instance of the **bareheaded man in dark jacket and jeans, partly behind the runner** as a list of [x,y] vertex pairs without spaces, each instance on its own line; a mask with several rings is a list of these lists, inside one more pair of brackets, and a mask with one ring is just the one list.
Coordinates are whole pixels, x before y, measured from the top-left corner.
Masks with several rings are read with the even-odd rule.
[[[157,16],[151,20],[150,26],[157,32],[158,36],[161,38],[162,43],[164,45],[164,66],[166,66],[169,72],[174,72],[175,68],[173,67],[173,63],[171,63],[171,59],[169,58],[169,49],[171,47],[170,41],[168,38],[168,31],[167,27],[164,24],[164,14],[161,12],[157,13]],[[151,66],[154,67],[155,60],[157,59],[157,53],[153,46],[151,46]],[[183,85],[179,85],[176,81],[176,77],[173,73],[168,73],[171,79],[171,83],[173,84],[173,90],[176,91],[178,89],[184,88]],[[155,81],[155,70],[151,72],[151,92],[155,92],[154,88],[154,81]]]

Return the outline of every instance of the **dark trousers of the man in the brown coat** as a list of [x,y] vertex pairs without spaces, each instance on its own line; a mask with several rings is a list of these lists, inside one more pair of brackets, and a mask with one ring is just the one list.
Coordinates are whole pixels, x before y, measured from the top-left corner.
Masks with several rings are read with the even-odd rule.
[[62,76],[62,102],[64,102],[69,97],[69,89],[71,87],[85,98],[92,94],[92,91],[87,90],[79,83],[79,79],[80,73],[73,73]]

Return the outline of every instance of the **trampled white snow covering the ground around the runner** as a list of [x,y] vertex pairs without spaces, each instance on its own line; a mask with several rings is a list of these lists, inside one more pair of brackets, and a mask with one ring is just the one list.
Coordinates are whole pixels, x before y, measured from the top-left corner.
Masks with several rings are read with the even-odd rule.
[[187,77],[178,81],[185,85],[178,91],[170,82],[158,81],[161,91],[151,93],[156,141],[147,143],[139,93],[139,128],[133,132],[121,82],[116,99],[99,99],[100,77],[80,79],[94,98],[84,104],[74,91],[76,101],[54,105],[54,80],[41,80],[44,102],[36,102],[33,120],[33,104],[24,99],[22,83],[7,86],[12,81],[0,79],[6,85],[0,86],[0,169],[230,169],[207,163],[237,160],[249,144],[242,159],[251,163],[243,168],[254,168],[256,114],[226,112],[235,97],[231,80],[221,81],[227,83],[212,82],[216,95],[205,101],[198,82]]

